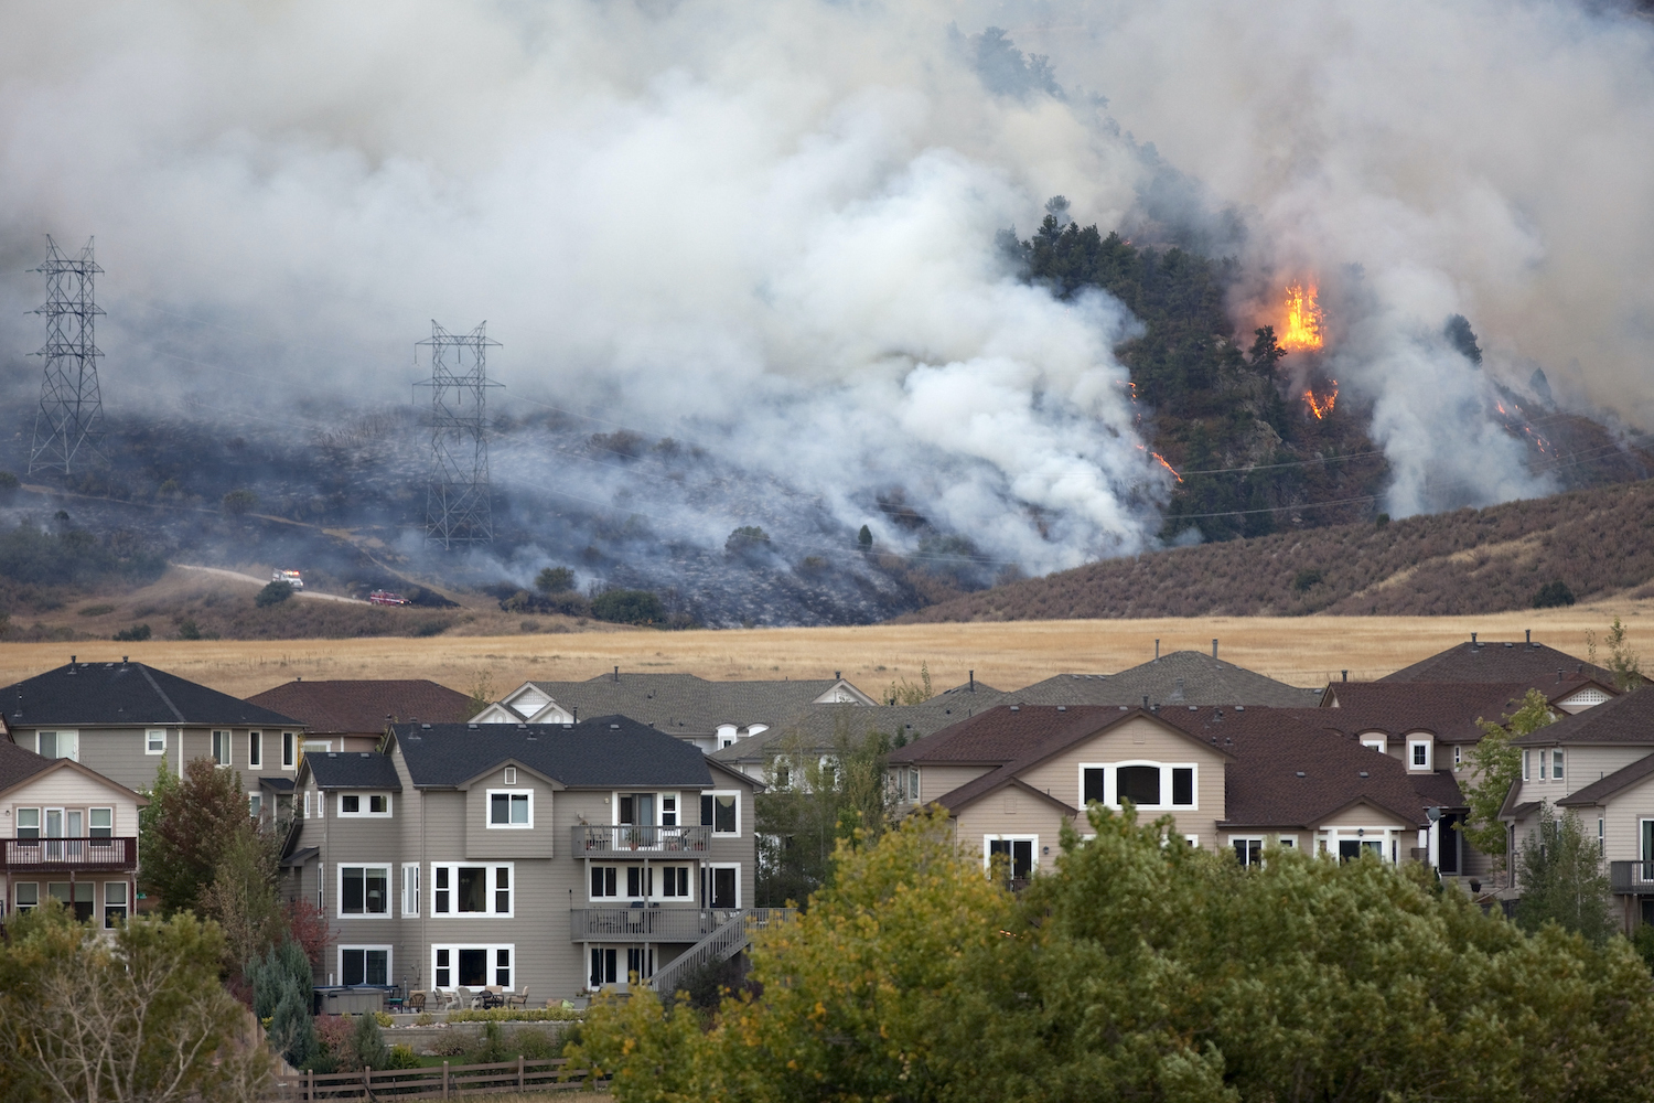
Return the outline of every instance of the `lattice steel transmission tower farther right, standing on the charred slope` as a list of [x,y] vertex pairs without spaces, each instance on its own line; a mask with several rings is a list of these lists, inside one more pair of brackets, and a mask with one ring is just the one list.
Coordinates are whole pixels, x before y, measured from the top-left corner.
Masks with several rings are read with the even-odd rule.
[[430,481],[425,491],[425,542],[488,544],[495,539],[488,494],[488,349],[480,324],[468,334],[452,334],[435,321],[430,341]]

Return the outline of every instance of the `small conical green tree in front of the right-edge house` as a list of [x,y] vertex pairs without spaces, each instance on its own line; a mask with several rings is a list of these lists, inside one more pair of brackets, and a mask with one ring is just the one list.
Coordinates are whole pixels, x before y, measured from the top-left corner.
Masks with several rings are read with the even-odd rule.
[[1522,847],[1517,923],[1527,931],[1555,923],[1593,943],[1606,941],[1614,921],[1596,835],[1585,833],[1573,810],[1556,815],[1550,804],[1540,804],[1538,820]]

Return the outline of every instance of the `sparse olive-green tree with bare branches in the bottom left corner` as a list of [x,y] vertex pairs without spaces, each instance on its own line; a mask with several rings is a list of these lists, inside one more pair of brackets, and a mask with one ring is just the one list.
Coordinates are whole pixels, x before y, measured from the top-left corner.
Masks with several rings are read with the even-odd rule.
[[223,936],[190,914],[112,939],[61,908],[18,916],[0,949],[0,1082],[12,1098],[256,1100],[268,1050],[218,982]]

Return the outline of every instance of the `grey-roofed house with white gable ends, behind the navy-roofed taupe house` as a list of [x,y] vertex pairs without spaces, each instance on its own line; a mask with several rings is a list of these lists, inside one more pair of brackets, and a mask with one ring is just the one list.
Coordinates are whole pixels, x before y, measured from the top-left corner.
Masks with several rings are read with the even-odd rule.
[[581,716],[630,716],[711,754],[762,734],[812,704],[872,706],[837,673],[781,681],[708,681],[695,675],[635,675],[615,666],[589,681],[526,681],[471,719],[483,724],[567,724]]

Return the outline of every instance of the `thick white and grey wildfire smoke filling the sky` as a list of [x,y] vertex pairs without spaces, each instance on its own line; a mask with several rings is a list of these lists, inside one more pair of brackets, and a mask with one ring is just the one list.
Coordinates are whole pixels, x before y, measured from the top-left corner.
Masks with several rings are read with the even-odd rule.
[[[989,26],[1049,61],[984,68]],[[0,31],[13,389],[43,235],[96,235],[112,407],[407,400],[430,319],[486,319],[508,403],[703,442],[892,541],[900,489],[1047,571],[1151,546],[1169,493],[1113,356],[1136,322],[994,248],[1064,193],[1232,230],[1242,331],[1322,279],[1394,513],[1548,489],[1492,382],[1654,412],[1654,58],[1613,12],[152,2]]]

